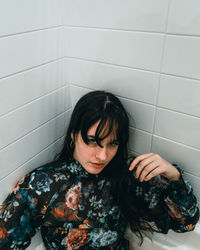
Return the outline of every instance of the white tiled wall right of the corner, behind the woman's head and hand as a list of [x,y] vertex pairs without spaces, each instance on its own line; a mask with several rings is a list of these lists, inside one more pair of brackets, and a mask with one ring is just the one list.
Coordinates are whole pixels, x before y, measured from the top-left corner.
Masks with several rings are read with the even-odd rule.
[[64,1],[65,70],[73,104],[115,93],[132,115],[130,149],[185,170],[200,201],[200,2]]

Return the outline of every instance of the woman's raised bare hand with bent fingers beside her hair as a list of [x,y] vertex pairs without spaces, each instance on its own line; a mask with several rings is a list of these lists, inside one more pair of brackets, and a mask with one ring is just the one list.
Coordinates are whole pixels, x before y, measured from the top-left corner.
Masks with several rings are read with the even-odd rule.
[[178,180],[179,171],[160,155],[149,153],[137,156],[130,164],[129,170],[136,169],[135,177],[142,181],[149,181],[156,175],[162,175],[168,180]]

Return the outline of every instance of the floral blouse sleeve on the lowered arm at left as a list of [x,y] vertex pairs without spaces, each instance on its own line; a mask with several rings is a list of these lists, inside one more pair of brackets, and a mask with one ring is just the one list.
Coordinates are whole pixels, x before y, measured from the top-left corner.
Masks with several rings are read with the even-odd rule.
[[30,245],[45,214],[42,191],[49,191],[48,184],[41,173],[32,172],[8,195],[0,206],[0,249],[26,249]]

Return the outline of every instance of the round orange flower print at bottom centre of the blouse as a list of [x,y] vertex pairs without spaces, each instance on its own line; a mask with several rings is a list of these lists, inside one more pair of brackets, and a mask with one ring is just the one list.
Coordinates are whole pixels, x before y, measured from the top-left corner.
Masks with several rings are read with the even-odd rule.
[[73,229],[65,238],[65,247],[74,249],[84,246],[88,241],[88,236],[89,233],[86,230]]

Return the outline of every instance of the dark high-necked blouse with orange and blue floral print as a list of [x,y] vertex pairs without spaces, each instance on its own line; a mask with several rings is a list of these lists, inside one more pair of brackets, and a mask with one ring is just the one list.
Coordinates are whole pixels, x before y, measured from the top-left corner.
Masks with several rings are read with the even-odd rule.
[[[182,177],[141,183],[133,175],[131,185],[144,201],[144,219],[159,231],[194,229],[199,210]],[[89,174],[76,161],[47,164],[22,178],[0,206],[0,249],[26,249],[39,229],[46,249],[127,250],[127,224],[108,178]]]

